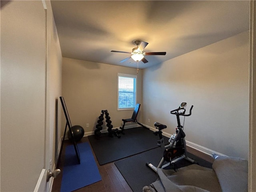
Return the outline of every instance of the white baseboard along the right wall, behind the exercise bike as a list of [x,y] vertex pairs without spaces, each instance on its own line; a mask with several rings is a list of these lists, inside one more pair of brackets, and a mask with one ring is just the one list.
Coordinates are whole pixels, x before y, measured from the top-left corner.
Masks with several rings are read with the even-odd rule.
[[[150,126],[145,125],[145,124],[143,124],[143,125],[144,125],[145,127],[149,128],[149,129],[152,130],[152,131],[157,131],[156,128],[150,127]],[[163,134],[164,136],[168,137],[168,138],[170,138],[170,136],[171,136],[171,134],[166,133],[166,132],[164,132],[164,131],[163,131],[162,134]],[[212,154],[216,154],[216,155],[218,155],[218,156],[226,156],[226,155],[221,154],[221,153],[219,153],[219,152],[216,152],[216,151],[214,151],[214,150],[211,150],[211,149],[208,149],[208,148],[206,148],[206,147],[200,146],[200,145],[198,145],[198,144],[196,144],[196,143],[190,142],[190,141],[188,141],[188,140],[186,140],[186,145],[189,146],[189,147],[191,147],[191,148],[194,148],[194,149],[196,149],[196,150],[198,150],[198,151],[200,151],[200,152],[203,152],[203,153],[205,153],[205,154],[207,154],[207,155],[210,155],[210,156],[211,156]]]

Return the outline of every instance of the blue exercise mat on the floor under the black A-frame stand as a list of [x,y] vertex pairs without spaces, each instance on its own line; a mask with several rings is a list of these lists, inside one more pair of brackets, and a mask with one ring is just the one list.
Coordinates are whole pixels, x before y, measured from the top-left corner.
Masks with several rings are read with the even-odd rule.
[[80,164],[73,145],[66,146],[60,192],[71,192],[101,180],[88,142],[79,143]]

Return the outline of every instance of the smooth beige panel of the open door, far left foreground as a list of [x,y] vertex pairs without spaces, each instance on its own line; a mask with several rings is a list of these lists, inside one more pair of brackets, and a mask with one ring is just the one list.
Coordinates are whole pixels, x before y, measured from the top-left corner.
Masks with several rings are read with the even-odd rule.
[[1,8],[1,191],[33,190],[44,167],[44,20],[40,1]]

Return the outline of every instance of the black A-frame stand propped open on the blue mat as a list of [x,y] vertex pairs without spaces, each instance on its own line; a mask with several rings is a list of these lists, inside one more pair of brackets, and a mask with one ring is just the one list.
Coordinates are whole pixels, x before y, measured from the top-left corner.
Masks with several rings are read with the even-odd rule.
[[77,146],[76,141],[74,139],[74,131],[72,130],[72,124],[71,124],[71,121],[70,121],[70,118],[69,118],[69,115],[68,115],[68,110],[67,110],[65,100],[64,100],[63,97],[60,97],[60,102],[62,104],[62,108],[63,108],[64,114],[65,114],[66,126],[65,126],[65,130],[64,130],[64,135],[63,135],[63,139],[62,139],[62,142],[61,142],[61,146],[60,146],[60,153],[59,153],[59,156],[57,158],[58,160],[57,160],[56,168],[58,167],[58,163],[60,162],[60,156],[61,156],[61,152],[62,152],[62,148],[63,148],[65,136],[66,136],[67,127],[68,127],[68,130],[69,130],[69,133],[70,133],[70,140],[73,142],[73,145],[74,145],[74,149],[75,149],[75,152],[76,152],[76,158],[78,160],[78,164],[80,164],[80,154],[79,154],[78,146]]

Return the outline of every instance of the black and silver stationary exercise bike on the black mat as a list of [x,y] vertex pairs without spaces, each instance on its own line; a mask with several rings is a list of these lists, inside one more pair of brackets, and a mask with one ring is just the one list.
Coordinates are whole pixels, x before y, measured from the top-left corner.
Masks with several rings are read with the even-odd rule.
[[[160,124],[158,122],[154,123],[155,128],[158,129],[158,131],[154,132],[154,134],[159,136],[157,145],[164,149],[163,157],[157,167],[155,167],[153,164],[151,164],[149,162],[146,163],[146,166],[148,166],[155,172],[157,171],[157,168],[165,168],[169,165],[171,166],[171,168],[176,170],[176,166],[174,165],[174,163],[178,162],[179,160],[182,160],[182,159],[186,159],[192,163],[197,163],[196,161],[190,159],[187,156],[186,140],[185,140],[186,134],[183,131],[183,126],[180,125],[180,116],[184,116],[184,118],[185,118],[185,116],[191,115],[193,105],[190,108],[189,114],[185,114],[186,105],[187,105],[186,102],[182,102],[178,109],[174,109],[170,112],[170,114],[176,115],[178,126],[176,128],[176,133],[171,135],[171,137],[169,139],[170,144],[168,144],[167,146],[164,146],[164,138],[162,136],[162,130],[167,128],[167,126],[164,124]],[[162,165],[164,163],[164,161],[166,161],[168,163]]]

